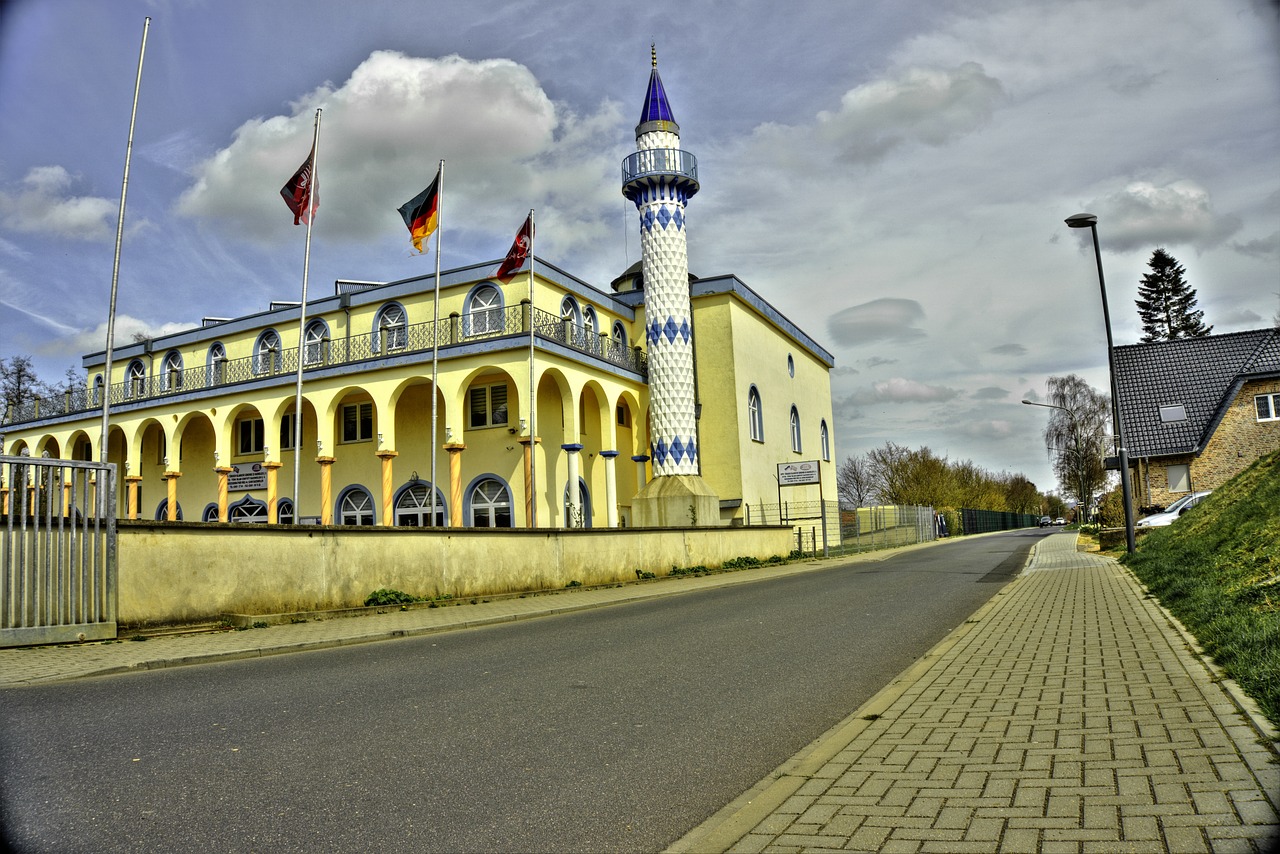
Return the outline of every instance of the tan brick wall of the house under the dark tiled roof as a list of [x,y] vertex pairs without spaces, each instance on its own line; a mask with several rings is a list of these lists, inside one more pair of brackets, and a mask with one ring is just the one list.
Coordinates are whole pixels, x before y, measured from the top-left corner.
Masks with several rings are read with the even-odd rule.
[[1197,457],[1160,457],[1137,471],[1138,506],[1169,506],[1187,493],[1169,490],[1169,466],[1190,465],[1192,490],[1216,489],[1258,457],[1280,449],[1280,421],[1258,421],[1253,398],[1280,393],[1280,379],[1245,383],[1231,401],[1213,437]]

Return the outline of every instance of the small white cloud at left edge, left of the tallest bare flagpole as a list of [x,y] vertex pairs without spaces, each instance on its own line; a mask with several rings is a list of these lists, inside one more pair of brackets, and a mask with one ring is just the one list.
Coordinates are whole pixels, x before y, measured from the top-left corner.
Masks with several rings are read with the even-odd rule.
[[0,223],[28,234],[105,241],[114,233],[119,205],[96,196],[73,196],[63,166],[35,166],[19,187],[0,189]]

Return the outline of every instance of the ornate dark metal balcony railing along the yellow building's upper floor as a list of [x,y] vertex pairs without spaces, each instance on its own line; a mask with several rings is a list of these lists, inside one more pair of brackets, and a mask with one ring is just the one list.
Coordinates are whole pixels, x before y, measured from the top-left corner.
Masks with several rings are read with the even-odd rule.
[[[627,347],[608,335],[602,335],[572,320],[540,309],[532,311],[534,334],[566,347],[588,353],[600,361],[649,374],[648,355],[639,347]],[[376,359],[403,355],[430,353],[434,347],[461,347],[489,338],[529,334],[530,312],[527,303],[507,309],[474,311],[468,315],[451,315],[447,319],[416,323],[407,326],[388,326],[364,335],[308,342],[303,350],[303,374],[310,370],[337,365],[356,365]],[[177,394],[189,394],[268,379],[296,375],[298,348],[262,351],[243,359],[220,359],[198,367],[166,370],[152,376],[131,378],[110,387],[111,406],[137,403]],[[58,397],[37,398],[10,406],[0,424],[20,424],[40,419],[74,415],[101,408],[100,389],[90,392],[76,388]]]

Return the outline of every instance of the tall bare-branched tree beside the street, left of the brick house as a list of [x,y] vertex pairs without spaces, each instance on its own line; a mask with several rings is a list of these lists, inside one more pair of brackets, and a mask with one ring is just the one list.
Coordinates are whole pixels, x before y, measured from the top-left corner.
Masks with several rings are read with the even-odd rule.
[[1048,402],[1057,407],[1044,428],[1044,443],[1057,455],[1053,472],[1062,492],[1080,503],[1080,521],[1085,521],[1093,497],[1107,481],[1102,460],[1108,449],[1111,398],[1068,374],[1048,378]]

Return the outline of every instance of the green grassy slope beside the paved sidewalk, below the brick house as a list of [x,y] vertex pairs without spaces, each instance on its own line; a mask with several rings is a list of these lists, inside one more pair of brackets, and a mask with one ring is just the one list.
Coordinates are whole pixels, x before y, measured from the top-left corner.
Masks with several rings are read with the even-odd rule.
[[1280,727],[1280,452],[1123,561]]

